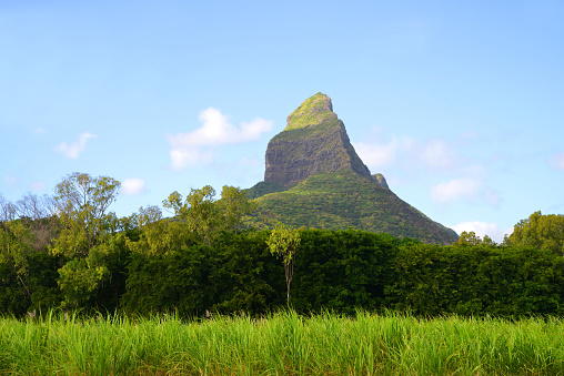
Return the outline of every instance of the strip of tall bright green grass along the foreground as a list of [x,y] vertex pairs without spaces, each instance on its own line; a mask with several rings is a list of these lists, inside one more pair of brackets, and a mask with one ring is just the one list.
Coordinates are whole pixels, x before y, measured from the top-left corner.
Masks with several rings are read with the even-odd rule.
[[0,319],[2,375],[564,375],[564,323],[173,315]]

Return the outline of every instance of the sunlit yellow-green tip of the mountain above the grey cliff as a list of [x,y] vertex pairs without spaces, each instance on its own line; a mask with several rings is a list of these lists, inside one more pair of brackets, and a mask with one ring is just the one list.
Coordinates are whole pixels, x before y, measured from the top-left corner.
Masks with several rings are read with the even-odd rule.
[[331,98],[322,93],[316,93],[303,101],[303,103],[288,116],[288,125],[284,131],[319,125],[329,120],[336,120]]

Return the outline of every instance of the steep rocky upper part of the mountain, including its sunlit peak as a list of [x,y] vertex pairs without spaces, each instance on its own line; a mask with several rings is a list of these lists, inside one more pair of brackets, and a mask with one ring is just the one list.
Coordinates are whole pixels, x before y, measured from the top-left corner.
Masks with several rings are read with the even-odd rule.
[[341,170],[371,177],[333,112],[331,99],[322,93],[305,100],[288,116],[286,128],[269,142],[265,161],[266,183],[293,185]]

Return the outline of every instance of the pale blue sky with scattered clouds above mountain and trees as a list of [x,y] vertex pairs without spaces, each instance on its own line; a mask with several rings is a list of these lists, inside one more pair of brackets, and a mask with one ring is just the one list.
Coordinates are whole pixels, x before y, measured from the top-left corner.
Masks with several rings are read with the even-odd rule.
[[0,1],[0,193],[250,187],[323,92],[372,173],[501,241],[563,213],[563,1]]

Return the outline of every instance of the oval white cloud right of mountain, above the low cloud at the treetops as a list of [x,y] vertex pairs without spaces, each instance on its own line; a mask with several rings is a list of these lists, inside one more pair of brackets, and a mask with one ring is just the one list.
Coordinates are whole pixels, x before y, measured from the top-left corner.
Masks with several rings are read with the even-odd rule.
[[465,200],[471,203],[485,202],[493,207],[500,207],[500,194],[473,177],[454,179],[446,183],[440,183],[432,187],[431,199],[433,202],[446,204],[456,200]]

